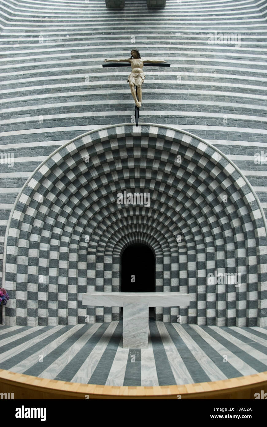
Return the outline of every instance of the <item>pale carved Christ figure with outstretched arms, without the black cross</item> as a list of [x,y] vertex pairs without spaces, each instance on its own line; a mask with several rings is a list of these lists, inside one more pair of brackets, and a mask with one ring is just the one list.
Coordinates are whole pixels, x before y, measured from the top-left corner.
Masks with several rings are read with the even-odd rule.
[[[131,50],[131,58],[128,59],[105,59],[104,62],[130,62],[132,67],[132,72],[130,76],[128,77],[127,82],[130,85],[131,94],[133,95],[134,102],[136,104],[136,107],[141,107],[142,104],[142,84],[145,80],[145,74],[143,72],[143,66],[144,62],[151,62],[153,64],[157,64],[160,62],[166,62],[158,59],[141,59],[140,53],[138,50]],[[137,94],[138,99],[136,97],[136,90],[137,88]]]

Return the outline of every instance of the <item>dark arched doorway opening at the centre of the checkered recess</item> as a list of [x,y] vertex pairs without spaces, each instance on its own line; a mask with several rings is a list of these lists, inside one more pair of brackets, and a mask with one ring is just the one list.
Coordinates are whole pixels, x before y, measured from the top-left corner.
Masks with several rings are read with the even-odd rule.
[[[152,250],[141,243],[128,246],[122,253],[122,292],[155,292],[155,257]],[[155,318],[154,307],[149,317]]]

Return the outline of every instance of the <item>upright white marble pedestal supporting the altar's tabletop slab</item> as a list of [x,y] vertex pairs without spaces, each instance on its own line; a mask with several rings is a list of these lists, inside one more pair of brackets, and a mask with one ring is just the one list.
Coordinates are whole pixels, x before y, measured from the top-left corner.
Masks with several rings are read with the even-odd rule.
[[148,348],[148,305],[123,304],[123,348]]

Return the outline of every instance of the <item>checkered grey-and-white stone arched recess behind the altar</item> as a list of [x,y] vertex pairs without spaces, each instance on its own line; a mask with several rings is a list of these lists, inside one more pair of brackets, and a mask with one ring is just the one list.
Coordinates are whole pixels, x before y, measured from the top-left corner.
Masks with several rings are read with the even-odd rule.
[[[124,191],[149,193],[149,206],[118,204]],[[266,230],[247,179],[202,139],[146,123],[87,132],[42,162],[16,199],[6,324],[118,320],[118,307],[84,307],[82,294],[119,291],[122,250],[144,243],[156,290],[190,294],[189,307],[158,307],[157,320],[267,326]],[[238,286],[210,283],[210,273],[240,274]]]

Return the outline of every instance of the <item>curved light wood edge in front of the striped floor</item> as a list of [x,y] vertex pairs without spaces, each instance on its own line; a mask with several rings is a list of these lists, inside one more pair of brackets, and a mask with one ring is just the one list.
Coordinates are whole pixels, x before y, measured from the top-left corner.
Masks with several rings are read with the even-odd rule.
[[183,386],[102,386],[32,377],[0,369],[0,392],[14,399],[255,399],[267,389],[267,371],[246,377]]

